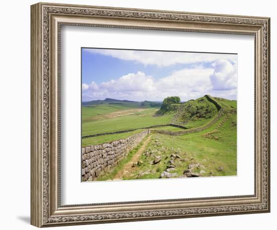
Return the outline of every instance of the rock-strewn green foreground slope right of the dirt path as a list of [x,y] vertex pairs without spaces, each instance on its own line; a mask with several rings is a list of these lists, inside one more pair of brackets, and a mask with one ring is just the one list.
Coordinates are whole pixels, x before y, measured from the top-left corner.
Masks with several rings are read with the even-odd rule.
[[[202,177],[237,175],[236,118],[236,114],[223,115],[210,128],[181,136],[152,133],[145,148],[134,149],[142,152],[137,160],[140,165],[128,171],[123,166],[115,167],[98,180],[158,179],[170,165],[175,178],[184,177],[184,171],[191,165],[195,166],[191,171]],[[161,161],[152,164],[156,156]],[[129,161],[132,159],[124,164]],[[115,176],[118,174],[121,178]]]

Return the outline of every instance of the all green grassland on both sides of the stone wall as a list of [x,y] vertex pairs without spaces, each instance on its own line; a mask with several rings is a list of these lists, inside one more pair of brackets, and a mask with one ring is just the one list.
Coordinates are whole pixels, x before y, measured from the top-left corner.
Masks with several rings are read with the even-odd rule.
[[[236,101],[222,98],[213,98],[217,105],[202,97],[188,103],[176,104],[174,110],[157,116],[159,108],[150,106],[141,107],[130,102],[126,104],[99,104],[82,107],[82,136],[99,133],[115,132],[120,130],[136,129],[134,131],[105,134],[82,139],[82,146],[107,143],[127,138],[143,131],[144,127],[164,125],[176,122],[182,123],[188,129],[203,127],[218,116],[218,105],[224,112],[211,127],[202,131],[179,136],[171,136],[152,132],[149,142],[143,140],[132,149],[127,157],[111,171],[106,172],[98,180],[113,180],[115,175],[123,175],[119,179],[157,179],[161,177],[174,159],[174,177],[183,177],[184,170],[189,165],[198,165],[193,168],[194,173],[201,176],[234,176],[237,174],[237,115]],[[176,109],[177,108],[177,109]],[[172,126],[155,127],[152,130],[182,131],[184,129]],[[125,169],[125,165],[132,161],[132,157],[139,153],[139,166]],[[154,154],[146,154],[154,152]],[[160,163],[153,165],[155,157],[161,157]],[[170,163],[171,164],[171,163]],[[122,174],[121,171],[127,172]],[[121,172],[121,173],[120,173]]]

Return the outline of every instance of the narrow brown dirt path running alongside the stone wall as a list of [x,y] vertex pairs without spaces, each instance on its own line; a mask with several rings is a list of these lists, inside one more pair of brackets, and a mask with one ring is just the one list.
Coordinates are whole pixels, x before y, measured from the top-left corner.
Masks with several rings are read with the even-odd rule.
[[151,135],[146,138],[143,145],[140,147],[140,149],[137,150],[135,155],[132,156],[131,160],[126,165],[124,165],[124,167],[113,177],[113,180],[120,180],[125,175],[130,175],[132,172],[136,171],[136,169],[132,167],[133,162],[137,162],[138,160],[140,160],[140,157],[145,151],[146,145],[149,143],[150,139]]

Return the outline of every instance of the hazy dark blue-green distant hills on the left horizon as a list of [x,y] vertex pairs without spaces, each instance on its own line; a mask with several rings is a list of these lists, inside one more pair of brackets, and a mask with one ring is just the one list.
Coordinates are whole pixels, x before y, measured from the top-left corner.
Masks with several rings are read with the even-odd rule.
[[126,105],[131,107],[143,107],[143,108],[151,108],[151,107],[161,107],[162,102],[152,102],[152,101],[128,101],[128,100],[117,100],[112,98],[106,98],[105,100],[94,100],[89,102],[82,102],[83,106],[91,106],[91,105]]

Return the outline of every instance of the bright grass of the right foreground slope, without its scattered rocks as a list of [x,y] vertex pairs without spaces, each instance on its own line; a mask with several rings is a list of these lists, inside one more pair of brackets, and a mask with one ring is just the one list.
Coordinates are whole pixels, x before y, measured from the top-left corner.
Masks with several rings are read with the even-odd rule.
[[[220,127],[216,129],[218,124],[225,118],[223,116],[216,124],[209,129],[203,130],[198,133],[190,133],[182,136],[168,136],[161,134],[153,134],[152,140],[147,146],[149,150],[155,150],[156,156],[162,156],[161,163],[157,165],[150,165],[154,157],[141,157],[144,162],[142,166],[137,167],[137,172],[129,175],[123,179],[136,179],[138,173],[154,170],[155,173],[145,175],[138,179],[157,179],[161,173],[165,171],[170,155],[174,154],[177,150],[180,151],[179,156],[186,161],[175,160],[175,171],[178,176],[183,174],[189,164],[200,163],[205,168],[203,176],[209,176],[210,172],[214,176],[231,176],[236,175],[236,114],[232,114],[229,119]],[[208,137],[204,134],[212,132]],[[215,139],[217,137],[218,139]],[[160,144],[156,144],[158,140]],[[162,148],[163,147],[163,148]],[[162,150],[164,149],[164,150]],[[219,167],[223,167],[223,171],[218,171]],[[195,172],[199,172],[196,170]]]

